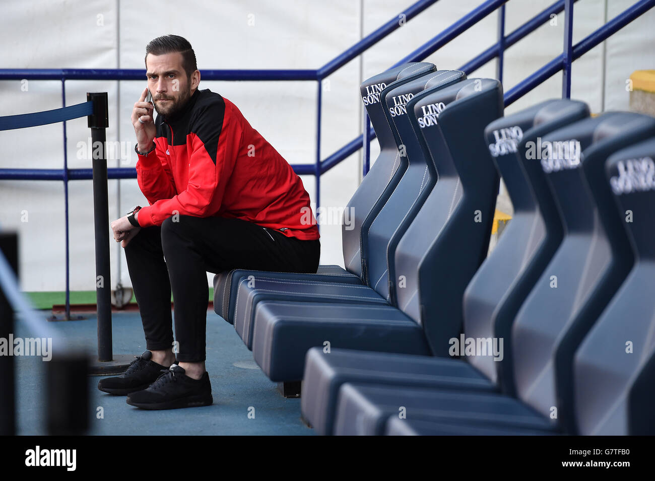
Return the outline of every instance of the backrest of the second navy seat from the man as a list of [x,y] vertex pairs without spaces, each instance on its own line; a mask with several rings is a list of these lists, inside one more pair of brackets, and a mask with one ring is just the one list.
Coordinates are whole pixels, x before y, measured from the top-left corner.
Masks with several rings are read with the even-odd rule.
[[[395,185],[390,183],[389,195],[382,198],[376,215],[367,219],[362,230],[366,242],[362,244],[364,279],[381,296],[390,300],[389,266],[393,264],[396,245],[425,198],[436,183],[434,163],[428,161],[428,153],[419,143],[411,119],[414,115],[411,106],[415,98],[426,90],[436,91],[466,79],[460,71],[439,70],[421,79],[407,82],[386,93],[386,105],[390,119],[398,134],[398,157],[401,166],[400,176]],[[428,168],[428,164],[430,168]],[[400,175],[400,173],[402,175]]]

